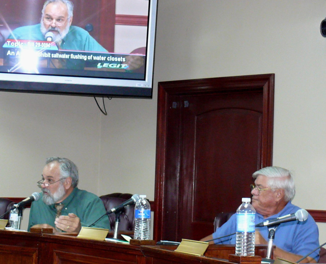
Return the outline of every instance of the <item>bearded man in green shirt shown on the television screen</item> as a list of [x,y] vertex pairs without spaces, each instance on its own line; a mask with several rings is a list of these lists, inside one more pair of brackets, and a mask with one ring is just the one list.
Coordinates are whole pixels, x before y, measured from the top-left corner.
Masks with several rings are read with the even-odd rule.
[[[56,42],[60,50],[107,52],[86,30],[71,25],[73,3],[69,0],[47,0],[42,9],[39,24],[26,25],[13,30],[8,39]],[[46,62],[46,60],[43,60]],[[75,59],[51,59],[53,68],[83,69],[85,61]],[[144,64],[140,56],[127,57],[128,70]],[[46,67],[46,65],[44,65]]]

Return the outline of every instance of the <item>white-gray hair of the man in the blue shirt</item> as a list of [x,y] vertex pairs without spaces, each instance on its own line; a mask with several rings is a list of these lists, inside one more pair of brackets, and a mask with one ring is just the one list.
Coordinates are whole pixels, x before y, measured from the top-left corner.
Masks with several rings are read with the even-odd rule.
[[286,201],[292,201],[295,195],[295,186],[293,174],[287,169],[281,167],[265,167],[256,171],[253,178],[259,175],[266,176],[267,183],[271,189],[283,189]]

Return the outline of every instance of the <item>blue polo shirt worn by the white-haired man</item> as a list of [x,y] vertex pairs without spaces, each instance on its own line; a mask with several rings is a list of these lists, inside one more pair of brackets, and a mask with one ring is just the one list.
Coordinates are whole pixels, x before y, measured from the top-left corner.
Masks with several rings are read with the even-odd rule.
[[[255,222],[256,224],[259,224],[272,218],[295,213],[298,209],[300,209],[300,207],[288,202],[283,210],[274,216],[264,219],[262,215],[256,213]],[[268,241],[267,227],[257,227],[256,230],[258,230],[264,239]],[[236,214],[234,214],[228,222],[216,229],[216,231],[213,233],[213,239],[235,232]],[[318,237],[319,232],[317,224],[309,215],[307,221],[304,222],[292,221],[280,224],[275,231],[274,245],[284,251],[304,256],[319,246]],[[214,242],[215,244],[235,244],[235,235],[225,237],[224,239],[215,240]],[[312,253],[310,257],[313,257],[316,261],[318,261],[319,249]]]

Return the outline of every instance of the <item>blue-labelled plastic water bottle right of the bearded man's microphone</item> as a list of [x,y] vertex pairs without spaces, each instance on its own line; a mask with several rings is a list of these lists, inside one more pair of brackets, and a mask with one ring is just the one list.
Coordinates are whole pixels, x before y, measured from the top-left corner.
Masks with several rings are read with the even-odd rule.
[[140,195],[134,206],[134,235],[133,239],[150,239],[151,206],[146,195]]

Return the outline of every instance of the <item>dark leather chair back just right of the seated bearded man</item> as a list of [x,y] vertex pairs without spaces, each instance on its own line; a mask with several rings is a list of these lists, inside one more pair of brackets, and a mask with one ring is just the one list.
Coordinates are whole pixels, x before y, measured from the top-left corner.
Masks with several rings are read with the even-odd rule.
[[[118,206],[119,204],[125,202],[130,199],[132,194],[122,194],[122,193],[113,193],[100,196],[102,200],[105,210],[108,211],[113,207]],[[108,219],[110,220],[111,230],[114,231],[116,225],[116,215],[110,214],[108,215]],[[120,215],[120,223],[118,227],[119,231],[133,231],[134,230],[134,205],[126,206]]]

